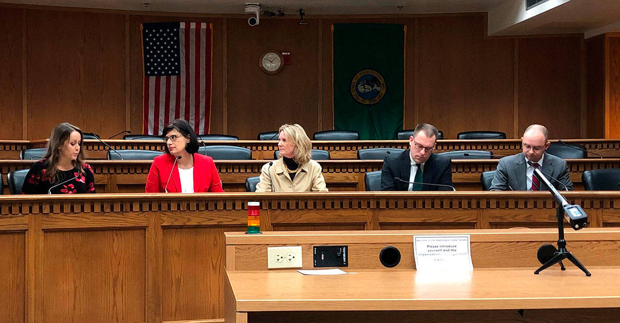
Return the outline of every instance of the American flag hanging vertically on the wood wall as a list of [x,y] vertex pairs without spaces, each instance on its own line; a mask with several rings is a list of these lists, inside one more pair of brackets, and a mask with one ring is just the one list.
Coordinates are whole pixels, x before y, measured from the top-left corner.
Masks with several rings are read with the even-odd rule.
[[205,22],[142,24],[144,134],[159,135],[177,118],[209,133],[212,30]]

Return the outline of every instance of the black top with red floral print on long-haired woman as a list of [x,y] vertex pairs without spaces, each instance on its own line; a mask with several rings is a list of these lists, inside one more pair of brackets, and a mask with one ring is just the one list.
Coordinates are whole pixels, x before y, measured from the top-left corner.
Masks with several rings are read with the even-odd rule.
[[52,194],[76,194],[95,193],[95,176],[89,164],[82,165],[84,172],[78,171],[78,167],[71,170],[58,170],[57,179],[49,179],[45,176],[47,162],[44,160],[35,162],[22,185],[22,194],[47,194],[50,187],[68,180],[68,182],[51,189]]

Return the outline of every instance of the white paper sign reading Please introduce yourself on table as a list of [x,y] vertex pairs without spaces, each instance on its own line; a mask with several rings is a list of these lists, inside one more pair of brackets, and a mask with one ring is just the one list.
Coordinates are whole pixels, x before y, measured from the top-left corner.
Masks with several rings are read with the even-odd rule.
[[415,268],[421,270],[474,270],[469,234],[414,236]]

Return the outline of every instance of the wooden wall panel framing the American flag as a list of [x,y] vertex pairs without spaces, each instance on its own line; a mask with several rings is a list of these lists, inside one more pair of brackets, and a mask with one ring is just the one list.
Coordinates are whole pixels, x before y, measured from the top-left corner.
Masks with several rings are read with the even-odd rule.
[[[140,25],[143,22],[206,22],[213,24],[213,70],[212,70],[212,99],[211,99],[211,133],[223,131],[223,88],[222,74],[222,19],[205,17],[187,17],[179,15],[130,15],[130,65],[131,65],[131,133],[142,133],[143,125],[143,87],[144,69],[142,61],[142,36]],[[119,130],[120,131],[120,130]],[[117,131],[118,132],[118,131]]]

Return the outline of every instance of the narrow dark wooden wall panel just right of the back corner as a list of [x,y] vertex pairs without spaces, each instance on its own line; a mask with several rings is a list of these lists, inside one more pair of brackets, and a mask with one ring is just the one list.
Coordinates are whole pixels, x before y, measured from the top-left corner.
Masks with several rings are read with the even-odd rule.
[[605,35],[586,40],[586,138],[605,137]]

